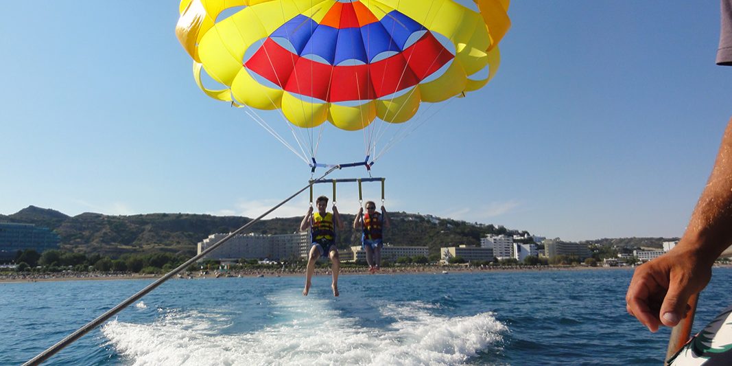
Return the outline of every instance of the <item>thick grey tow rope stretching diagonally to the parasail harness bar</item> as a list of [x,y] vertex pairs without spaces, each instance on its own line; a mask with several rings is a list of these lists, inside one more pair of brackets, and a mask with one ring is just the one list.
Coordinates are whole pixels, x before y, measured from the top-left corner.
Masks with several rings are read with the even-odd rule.
[[[323,176],[321,176],[319,179],[323,179],[325,176],[332,173],[332,171],[335,171],[336,169],[338,169],[337,166],[330,168],[329,171],[326,171],[326,173],[323,174]],[[119,313],[125,307],[130,306],[132,304],[132,302],[137,301],[142,296],[145,296],[150,291],[154,290],[154,288],[157,288],[157,286],[162,285],[167,280],[170,280],[171,277],[176,275],[178,272],[181,272],[184,269],[187,269],[188,266],[195,263],[195,261],[198,261],[199,259],[203,258],[206,254],[211,253],[217,247],[220,247],[225,242],[228,242],[229,239],[233,238],[237,234],[242,233],[242,231],[247,230],[247,228],[250,228],[250,226],[254,225],[255,223],[258,223],[262,218],[266,217],[266,215],[272,213],[276,209],[279,209],[280,206],[283,206],[285,203],[288,203],[291,199],[295,198],[297,195],[299,195],[300,193],[307,190],[308,187],[313,187],[313,181],[310,181],[309,184],[307,184],[305,187],[302,187],[300,190],[298,190],[296,193],[294,193],[290,197],[285,198],[284,201],[277,203],[277,205],[275,205],[271,209],[267,210],[267,212],[264,212],[264,214],[259,215],[259,217],[255,218],[254,220],[251,220],[249,223],[246,223],[241,228],[236,229],[236,231],[231,232],[230,234],[225,236],[223,239],[221,239],[218,242],[216,242],[215,244],[213,244],[211,247],[206,248],[206,250],[203,250],[201,253],[198,253],[198,255],[195,255],[195,257],[190,258],[184,264],[181,264],[180,266],[178,266],[176,269],[173,269],[171,272],[166,273],[165,275],[163,275],[163,277],[160,277],[154,283],[147,285],[146,288],[143,288],[141,291],[138,291],[137,294],[130,296],[130,298],[124,300],[123,302],[120,302],[119,305],[117,305],[116,307],[113,307],[112,309],[110,309],[106,313],[100,315],[93,321],[90,321],[86,325],[77,329],[75,332],[68,335],[63,340],[59,341],[59,343],[56,343],[55,345],[49,347],[45,351],[43,351],[40,354],[38,354],[37,356],[35,356],[33,359],[30,359],[28,362],[24,363],[23,366],[40,365],[41,362],[44,362],[49,357],[51,357],[54,354],[56,354],[57,352],[61,351],[61,349],[65,348],[66,346],[69,346],[75,340],[78,340],[81,336],[86,335],[86,333],[90,332],[92,329],[94,329],[97,326],[99,326],[100,324],[104,323],[107,319],[111,318],[112,315]]]

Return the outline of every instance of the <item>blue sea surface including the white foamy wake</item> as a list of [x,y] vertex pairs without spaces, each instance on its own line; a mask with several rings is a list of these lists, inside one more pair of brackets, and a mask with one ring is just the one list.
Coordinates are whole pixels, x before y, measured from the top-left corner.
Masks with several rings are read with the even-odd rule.
[[[44,365],[662,365],[625,311],[631,269],[169,280]],[[0,283],[20,365],[152,280]],[[714,269],[694,331],[732,304]]]

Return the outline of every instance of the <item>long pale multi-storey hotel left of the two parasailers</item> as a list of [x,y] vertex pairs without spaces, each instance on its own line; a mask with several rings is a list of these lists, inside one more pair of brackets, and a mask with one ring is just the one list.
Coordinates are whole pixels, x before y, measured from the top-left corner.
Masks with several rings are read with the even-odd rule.
[[[212,234],[198,243],[198,254],[216,244],[228,234]],[[262,235],[239,234],[217,247],[204,259],[264,259],[275,261],[287,258],[307,257],[310,250],[310,232],[295,234]]]

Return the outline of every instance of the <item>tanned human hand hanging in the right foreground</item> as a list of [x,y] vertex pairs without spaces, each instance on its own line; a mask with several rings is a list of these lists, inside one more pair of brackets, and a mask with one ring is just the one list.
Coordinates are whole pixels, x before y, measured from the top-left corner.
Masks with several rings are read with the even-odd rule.
[[673,250],[635,269],[625,301],[630,315],[656,332],[662,325],[676,326],[686,318],[689,298],[712,278],[714,261],[694,250]]

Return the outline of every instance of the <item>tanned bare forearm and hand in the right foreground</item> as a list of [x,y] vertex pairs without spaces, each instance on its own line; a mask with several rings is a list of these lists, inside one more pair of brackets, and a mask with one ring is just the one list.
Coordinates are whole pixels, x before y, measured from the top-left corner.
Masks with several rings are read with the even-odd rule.
[[627,311],[656,332],[676,326],[687,302],[712,278],[712,265],[732,244],[732,119],[701,197],[679,244],[635,269],[625,296]]

